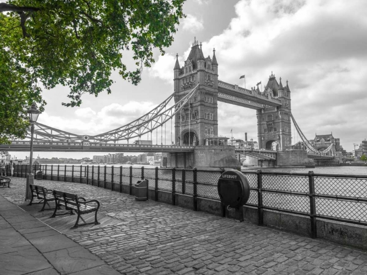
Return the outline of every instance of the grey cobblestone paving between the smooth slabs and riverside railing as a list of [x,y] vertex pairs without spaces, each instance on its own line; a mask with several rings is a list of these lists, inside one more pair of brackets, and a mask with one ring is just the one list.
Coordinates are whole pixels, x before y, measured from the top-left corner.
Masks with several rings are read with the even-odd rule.
[[[0,189],[24,204],[25,179]],[[121,274],[366,275],[367,252],[79,183],[38,180],[101,203],[121,224],[66,235]]]

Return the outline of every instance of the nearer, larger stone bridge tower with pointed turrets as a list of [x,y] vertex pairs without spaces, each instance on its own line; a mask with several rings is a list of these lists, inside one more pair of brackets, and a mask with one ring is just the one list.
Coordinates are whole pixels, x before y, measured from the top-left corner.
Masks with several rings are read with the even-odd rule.
[[184,66],[180,67],[176,55],[174,71],[175,102],[181,100],[199,84],[190,104],[175,116],[175,142],[178,145],[205,145],[207,137],[218,135],[218,63],[204,57],[202,44],[196,38]]

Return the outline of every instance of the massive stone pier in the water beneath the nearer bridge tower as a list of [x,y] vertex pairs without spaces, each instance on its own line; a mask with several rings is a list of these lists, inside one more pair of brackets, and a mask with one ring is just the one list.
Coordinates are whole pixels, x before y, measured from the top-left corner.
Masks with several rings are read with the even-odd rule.
[[196,146],[194,152],[163,153],[167,167],[191,169],[241,169],[231,146]]

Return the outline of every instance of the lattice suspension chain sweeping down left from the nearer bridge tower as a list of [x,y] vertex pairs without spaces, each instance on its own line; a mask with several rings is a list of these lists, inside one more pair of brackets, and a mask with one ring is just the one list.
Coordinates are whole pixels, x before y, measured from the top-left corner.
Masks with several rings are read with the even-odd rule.
[[[138,119],[126,124],[122,127],[118,127],[114,130],[98,134],[98,135],[78,135],[69,133],[63,130],[52,128],[41,123],[35,123],[34,140],[35,141],[91,141],[91,142],[117,142],[121,140],[127,140],[132,138],[140,138],[144,134],[152,135],[152,131],[158,127],[163,127],[168,120],[172,119],[178,112],[181,112],[183,108],[186,108],[190,99],[197,91],[199,85],[196,85],[191,91],[189,91],[184,97],[175,103],[173,106],[168,107],[169,102],[172,100],[174,93],[171,94],[166,100],[159,104],[148,113],[139,117]],[[162,131],[162,128],[161,128]],[[172,126],[171,126],[172,131]],[[158,133],[157,133],[158,134]],[[172,133],[171,133],[172,136]],[[27,138],[30,138],[28,132]],[[158,141],[158,137],[157,137]],[[161,138],[162,141],[162,138]]]

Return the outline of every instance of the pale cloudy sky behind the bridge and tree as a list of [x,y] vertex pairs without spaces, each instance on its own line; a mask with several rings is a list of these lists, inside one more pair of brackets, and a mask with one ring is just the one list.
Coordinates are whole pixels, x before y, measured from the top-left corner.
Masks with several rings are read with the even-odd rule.
[[[275,74],[289,81],[292,113],[308,139],[340,138],[347,151],[367,138],[367,1],[362,0],[188,0],[174,43],[145,68],[134,86],[114,73],[112,94],[83,96],[81,107],[61,106],[67,88],[44,91],[46,111],[39,122],[76,134],[120,127],[161,103],[173,92],[176,53],[180,65],[194,37],[204,56],[215,48],[219,79],[246,88]],[[124,59],[128,60],[129,53]],[[255,111],[218,104],[219,134],[257,140]],[[292,127],[292,143],[300,140]],[[167,143],[170,143],[167,133]],[[153,143],[155,137],[153,136]],[[41,157],[80,157],[90,153],[45,153]],[[15,153],[24,158],[25,153]]]

